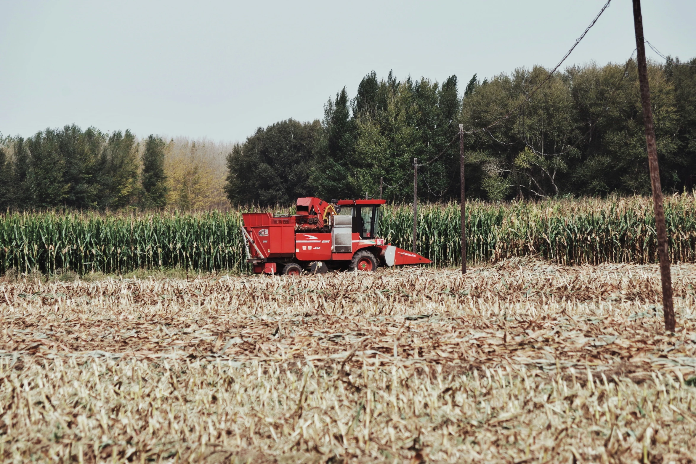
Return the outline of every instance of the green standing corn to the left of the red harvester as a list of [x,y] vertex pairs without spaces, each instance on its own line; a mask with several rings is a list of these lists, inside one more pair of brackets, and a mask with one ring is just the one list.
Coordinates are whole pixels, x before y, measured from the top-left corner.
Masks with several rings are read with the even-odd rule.
[[124,273],[246,267],[239,214],[13,214],[0,221],[0,266],[24,273]]

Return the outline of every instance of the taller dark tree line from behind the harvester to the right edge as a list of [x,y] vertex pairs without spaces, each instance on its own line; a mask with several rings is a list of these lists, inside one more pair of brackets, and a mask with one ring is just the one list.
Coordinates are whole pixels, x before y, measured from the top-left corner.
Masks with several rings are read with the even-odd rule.
[[[696,58],[649,65],[668,192],[696,182],[695,66]],[[382,178],[383,198],[403,201],[413,198],[416,158],[420,198],[457,198],[459,143],[450,142],[463,124],[473,198],[649,194],[635,61],[568,67],[530,98],[547,74],[535,66],[490,80],[474,75],[460,95],[456,76],[440,84],[370,72],[354,97],[343,88],[329,99],[321,121],[276,122],[235,145],[226,193],[232,204],[262,205],[303,195],[377,198]]]

